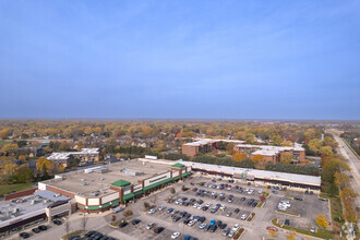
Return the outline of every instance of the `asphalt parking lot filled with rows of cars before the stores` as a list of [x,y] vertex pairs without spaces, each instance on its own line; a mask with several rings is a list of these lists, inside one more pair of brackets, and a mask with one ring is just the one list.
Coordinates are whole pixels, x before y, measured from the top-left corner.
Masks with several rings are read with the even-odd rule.
[[[205,184],[211,184],[206,185]],[[228,188],[218,189],[214,184],[229,184],[231,190]],[[189,188],[188,191],[182,191],[182,185]],[[238,185],[238,188],[236,188]],[[230,229],[235,225],[239,225],[241,228],[244,228],[245,232],[243,239],[262,239],[263,237],[268,238],[268,232],[266,227],[272,226],[271,220],[273,218],[278,218],[279,221],[284,223],[285,219],[289,219],[290,226],[307,229],[309,225],[315,226],[315,215],[317,213],[323,213],[328,216],[328,204],[327,202],[319,201],[319,195],[307,195],[300,192],[291,191],[280,191],[268,190],[271,196],[266,200],[266,204],[263,207],[256,207],[255,204],[260,203],[259,191],[265,191],[264,187],[251,183],[248,185],[248,182],[228,182],[225,180],[216,179],[216,182],[212,182],[212,178],[207,177],[193,177],[192,179],[185,180],[183,183],[177,183],[173,185],[176,193],[171,194],[169,189],[159,191],[152,194],[146,199],[137,200],[135,204],[130,205],[129,207],[134,211],[134,215],[129,220],[140,219],[141,223],[136,226],[128,225],[124,228],[120,228],[124,235],[132,236],[139,239],[170,239],[171,235],[176,231],[181,232],[181,236],[178,239],[183,239],[185,235],[190,235],[197,239],[223,239],[223,231],[225,228],[229,227]],[[194,189],[196,188],[196,189]],[[240,192],[242,188],[242,192]],[[247,189],[253,189],[252,193],[249,194]],[[203,192],[199,194],[199,192]],[[220,194],[224,193],[224,199],[220,200]],[[214,196],[216,195],[216,197]],[[229,195],[233,195],[232,201],[229,202]],[[291,207],[288,209],[291,213],[300,214],[300,217],[289,216],[276,213],[277,205],[280,200],[288,199],[285,195],[301,196],[302,201],[290,200]],[[169,197],[173,199],[169,201]],[[181,202],[177,204],[177,201],[184,199],[184,204]],[[245,200],[243,200],[245,197]],[[193,199],[193,200],[192,200]],[[249,201],[253,199],[253,203],[249,204]],[[192,201],[191,201],[192,200]],[[201,207],[194,207],[195,203],[199,201],[203,203],[199,204]],[[191,203],[189,203],[191,201]],[[148,213],[144,208],[144,202],[148,202],[152,205],[156,205],[155,213]],[[189,203],[189,204],[188,204]],[[225,205],[223,211],[219,207],[215,213],[212,213],[211,209],[216,205]],[[203,208],[208,205],[208,208]],[[165,206],[166,208],[159,211],[158,207]],[[167,213],[169,208],[173,208],[171,213]],[[237,209],[238,208],[238,209]],[[237,211],[236,211],[237,209]],[[212,219],[216,221],[221,221],[226,227],[217,228],[214,232],[211,230],[200,229],[202,223],[195,221],[193,226],[189,226],[189,220],[185,221],[187,217],[178,217],[179,219],[173,220],[176,216],[180,214],[189,214],[191,217],[204,217],[204,224],[209,225]],[[230,214],[229,214],[230,213]],[[254,213],[255,216],[252,221],[241,219],[241,216],[249,216],[251,213]],[[121,217],[121,215],[119,215]],[[327,218],[328,219],[328,218]],[[185,221],[185,223],[184,223]],[[149,223],[156,223],[156,227],[164,227],[165,230],[160,233],[155,233],[153,230],[146,229],[146,226]],[[279,229],[277,239],[286,239],[286,231]],[[302,239],[302,237],[297,237],[296,239]],[[310,238],[311,239],[311,238]]]

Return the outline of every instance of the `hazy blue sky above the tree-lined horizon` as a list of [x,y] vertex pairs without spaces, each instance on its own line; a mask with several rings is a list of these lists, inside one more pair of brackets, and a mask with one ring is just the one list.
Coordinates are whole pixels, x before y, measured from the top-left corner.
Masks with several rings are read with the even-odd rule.
[[360,119],[360,1],[0,0],[0,118]]

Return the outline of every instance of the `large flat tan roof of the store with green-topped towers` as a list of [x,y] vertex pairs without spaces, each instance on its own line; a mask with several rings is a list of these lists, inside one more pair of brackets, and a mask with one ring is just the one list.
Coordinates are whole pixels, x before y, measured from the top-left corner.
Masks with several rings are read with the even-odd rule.
[[103,167],[108,168],[108,171],[104,173],[85,173],[84,170],[76,170],[58,175],[56,179],[43,182],[85,197],[94,196],[93,193],[99,191],[99,195],[97,195],[97,197],[99,197],[115,192],[113,190],[110,190],[112,182],[122,179],[136,185],[139,184],[137,180],[166,172],[170,170],[171,166],[141,159],[132,159],[103,165]]

